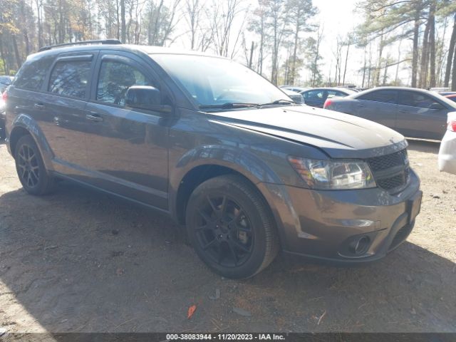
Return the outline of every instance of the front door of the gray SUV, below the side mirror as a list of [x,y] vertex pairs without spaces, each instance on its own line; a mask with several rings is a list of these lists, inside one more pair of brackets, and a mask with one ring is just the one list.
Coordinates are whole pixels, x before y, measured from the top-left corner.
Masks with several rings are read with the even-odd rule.
[[[130,86],[161,90],[152,68],[129,53],[100,53],[88,103],[90,182],[167,209],[170,113],[125,106]],[[165,100],[164,91],[162,91]],[[170,104],[170,103],[166,103]]]

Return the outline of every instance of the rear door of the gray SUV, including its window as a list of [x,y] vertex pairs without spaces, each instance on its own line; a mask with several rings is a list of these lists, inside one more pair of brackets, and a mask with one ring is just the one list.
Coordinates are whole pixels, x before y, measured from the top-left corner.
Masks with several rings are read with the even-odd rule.
[[86,104],[95,53],[60,56],[48,76],[47,91],[33,104],[46,114],[42,125],[56,171],[76,175],[86,166]]

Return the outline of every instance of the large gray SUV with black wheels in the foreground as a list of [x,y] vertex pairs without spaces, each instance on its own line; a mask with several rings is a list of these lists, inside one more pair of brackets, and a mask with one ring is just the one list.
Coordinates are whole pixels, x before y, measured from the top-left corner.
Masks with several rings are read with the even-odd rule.
[[166,212],[237,279],[280,251],[374,261],[413,229],[420,181],[394,130],[294,105],[226,58],[117,41],[43,50],[6,94],[9,151],[32,195],[62,178]]

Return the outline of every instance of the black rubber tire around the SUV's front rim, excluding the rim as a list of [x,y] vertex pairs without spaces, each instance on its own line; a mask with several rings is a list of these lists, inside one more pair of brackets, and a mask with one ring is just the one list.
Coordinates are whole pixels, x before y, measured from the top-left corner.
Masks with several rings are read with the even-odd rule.
[[[244,184],[243,184],[244,183]],[[241,186],[239,186],[241,184]],[[247,192],[244,191],[247,187]],[[259,271],[261,265],[266,257],[266,232],[264,225],[267,219],[267,209],[261,201],[261,197],[257,195],[254,189],[249,189],[248,184],[245,182],[234,182],[226,177],[216,177],[199,185],[190,196],[190,200],[187,205],[187,234],[190,239],[192,246],[197,252],[198,256],[204,261],[210,269],[214,270],[217,274],[232,279],[244,279],[249,276],[253,276]],[[197,208],[199,204],[207,201],[207,195],[213,196],[228,196],[234,199],[239,204],[244,212],[247,214],[249,222],[252,224],[252,230],[254,232],[254,247],[252,255],[244,262],[244,264],[237,267],[225,267],[214,262],[207,254],[202,250],[199,242],[197,241],[197,235],[195,234],[195,220],[197,219]],[[252,197],[256,197],[253,198]]]

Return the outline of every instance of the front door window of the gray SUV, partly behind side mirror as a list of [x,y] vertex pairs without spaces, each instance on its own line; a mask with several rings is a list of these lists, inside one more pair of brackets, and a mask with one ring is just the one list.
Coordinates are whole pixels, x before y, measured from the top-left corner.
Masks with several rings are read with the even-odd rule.
[[153,86],[137,68],[119,62],[103,62],[98,78],[97,100],[125,105],[131,86]]

